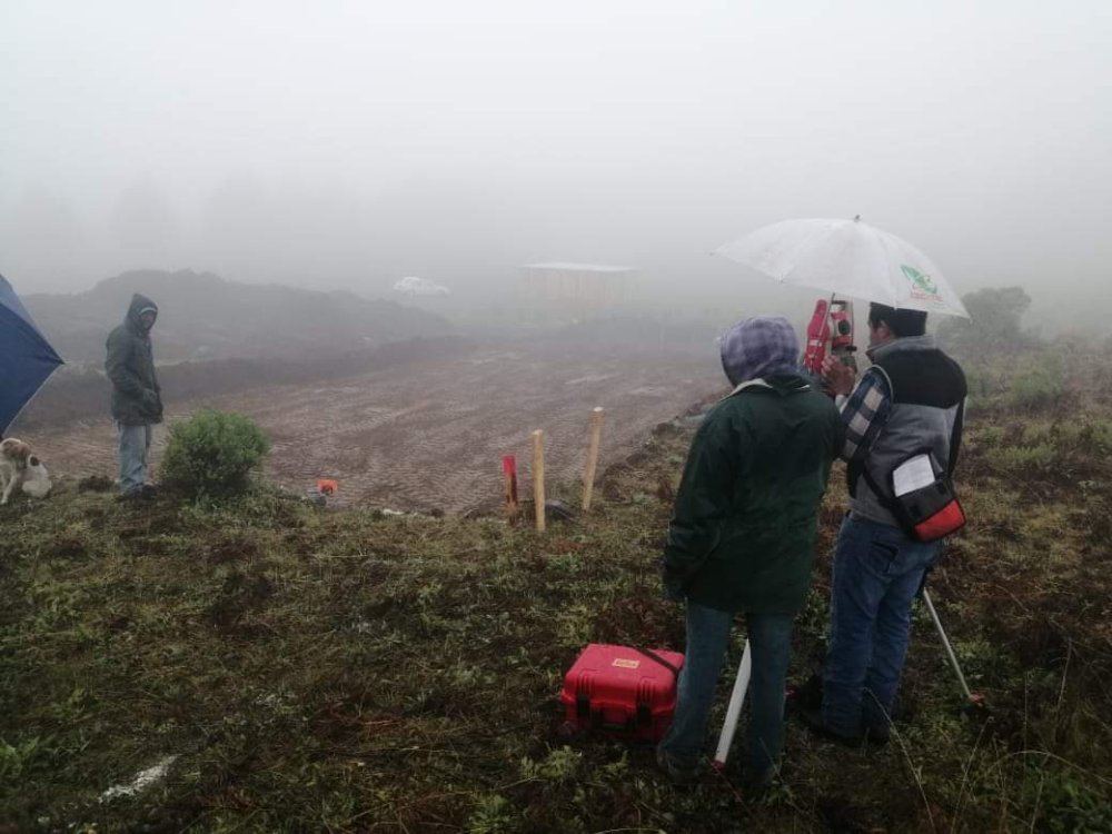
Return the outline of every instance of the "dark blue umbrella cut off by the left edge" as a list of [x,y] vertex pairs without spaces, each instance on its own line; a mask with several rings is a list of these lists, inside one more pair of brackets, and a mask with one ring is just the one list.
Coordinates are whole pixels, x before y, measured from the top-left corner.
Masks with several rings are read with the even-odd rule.
[[61,364],[0,275],[0,435]]

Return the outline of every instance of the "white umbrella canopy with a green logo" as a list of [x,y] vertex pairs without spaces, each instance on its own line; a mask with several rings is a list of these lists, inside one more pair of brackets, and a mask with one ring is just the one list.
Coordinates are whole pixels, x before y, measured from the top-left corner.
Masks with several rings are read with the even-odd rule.
[[931,259],[906,240],[853,220],[785,220],[718,247],[782,284],[814,287],[890,307],[969,318]]

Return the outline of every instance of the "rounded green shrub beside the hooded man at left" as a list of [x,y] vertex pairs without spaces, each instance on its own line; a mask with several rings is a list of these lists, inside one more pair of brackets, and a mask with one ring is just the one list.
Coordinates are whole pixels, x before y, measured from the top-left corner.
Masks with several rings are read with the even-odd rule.
[[266,434],[242,415],[202,409],[170,428],[161,475],[193,496],[232,495],[269,450]]

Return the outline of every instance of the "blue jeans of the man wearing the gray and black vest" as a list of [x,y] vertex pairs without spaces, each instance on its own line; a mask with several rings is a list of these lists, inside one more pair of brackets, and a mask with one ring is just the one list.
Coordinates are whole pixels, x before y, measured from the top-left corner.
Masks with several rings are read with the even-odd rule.
[[911,635],[911,606],[942,542],[846,516],[831,580],[831,637],[823,672],[823,722],[835,733],[887,733]]

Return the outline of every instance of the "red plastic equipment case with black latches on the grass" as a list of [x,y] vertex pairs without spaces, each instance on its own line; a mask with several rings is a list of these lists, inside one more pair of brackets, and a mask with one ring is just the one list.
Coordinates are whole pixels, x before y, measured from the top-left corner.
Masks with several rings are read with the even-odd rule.
[[[652,651],[676,669],[679,652]],[[641,649],[593,643],[564,676],[567,722],[623,738],[658,742],[676,712],[675,673]]]

